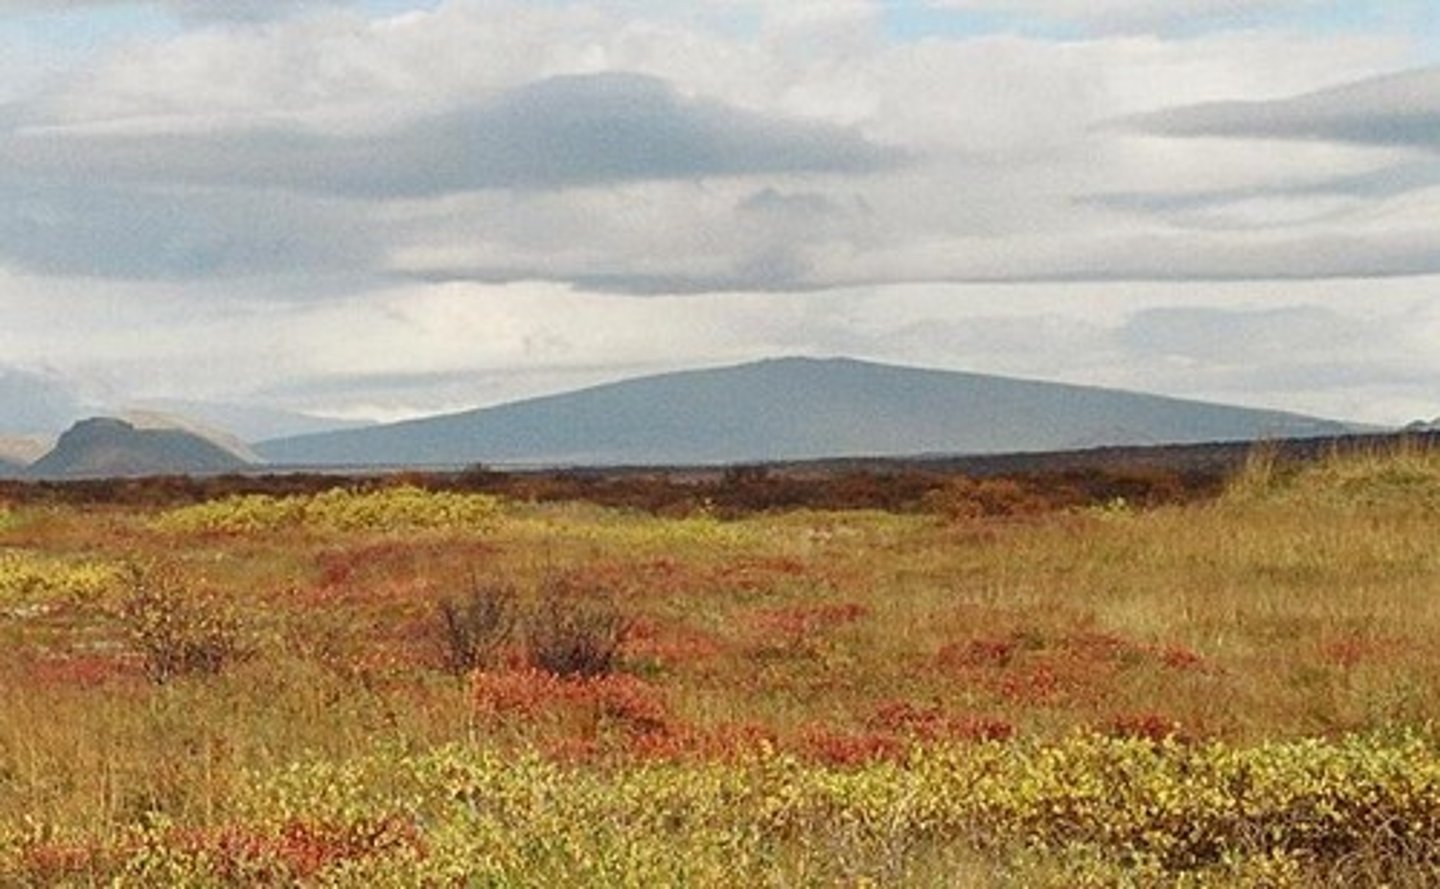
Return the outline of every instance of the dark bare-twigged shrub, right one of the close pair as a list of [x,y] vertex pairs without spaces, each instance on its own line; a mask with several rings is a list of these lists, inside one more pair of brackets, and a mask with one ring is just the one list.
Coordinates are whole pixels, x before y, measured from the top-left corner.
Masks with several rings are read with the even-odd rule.
[[550,578],[527,615],[526,660],[556,676],[605,676],[619,663],[628,630],[612,594]]

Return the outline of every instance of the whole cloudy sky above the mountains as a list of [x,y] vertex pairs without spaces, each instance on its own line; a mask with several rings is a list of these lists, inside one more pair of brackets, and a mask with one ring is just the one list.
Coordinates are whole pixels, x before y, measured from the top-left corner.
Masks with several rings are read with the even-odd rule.
[[1433,0],[0,0],[0,435],[782,354],[1440,416]]

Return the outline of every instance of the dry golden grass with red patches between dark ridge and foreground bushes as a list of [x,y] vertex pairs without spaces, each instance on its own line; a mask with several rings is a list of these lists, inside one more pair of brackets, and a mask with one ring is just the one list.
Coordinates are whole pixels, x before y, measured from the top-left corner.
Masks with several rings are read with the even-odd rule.
[[[1221,499],[1152,511],[716,522],[507,504],[475,527],[217,535],[140,509],[13,507],[0,548],[71,571],[164,560],[223,598],[253,650],[219,676],[153,684],[121,594],[0,601],[0,840],[20,837],[0,860],[65,837],[114,847],[158,821],[216,830],[256,777],[374,749],[396,764],[445,745],[615,764],[763,738],[852,768],[1076,732],[1234,751],[1428,738],[1440,716],[1440,457],[1417,450],[1256,460]],[[662,728],[624,712],[497,725],[438,669],[439,598],[495,582],[527,599],[554,578],[635,621],[624,669]],[[577,725],[590,735],[569,736]],[[916,883],[939,873],[924,860],[950,862],[916,854]],[[1064,856],[1005,852],[1031,875]]]

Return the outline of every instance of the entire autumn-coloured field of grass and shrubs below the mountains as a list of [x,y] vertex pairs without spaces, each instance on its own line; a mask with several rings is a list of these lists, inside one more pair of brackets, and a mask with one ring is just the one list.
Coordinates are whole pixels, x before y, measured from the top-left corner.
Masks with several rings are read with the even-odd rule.
[[12,490],[0,885],[1440,880],[1440,451],[729,481]]

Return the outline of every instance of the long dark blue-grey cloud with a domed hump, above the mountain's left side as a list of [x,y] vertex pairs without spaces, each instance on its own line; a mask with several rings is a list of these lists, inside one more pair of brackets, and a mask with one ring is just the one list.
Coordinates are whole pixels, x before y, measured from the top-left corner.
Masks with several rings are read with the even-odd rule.
[[373,135],[298,128],[30,131],[0,160],[33,176],[282,187],[356,197],[564,189],[757,173],[868,173],[900,156],[828,124],[685,99],[629,73],[559,76]]

